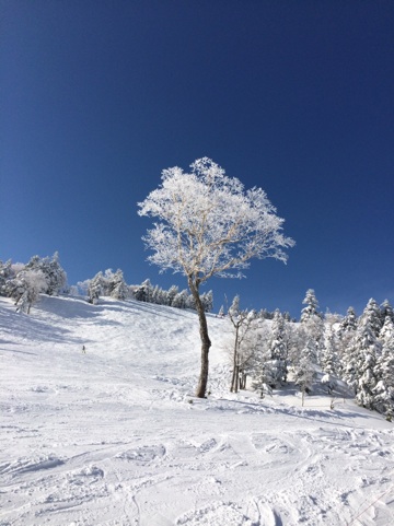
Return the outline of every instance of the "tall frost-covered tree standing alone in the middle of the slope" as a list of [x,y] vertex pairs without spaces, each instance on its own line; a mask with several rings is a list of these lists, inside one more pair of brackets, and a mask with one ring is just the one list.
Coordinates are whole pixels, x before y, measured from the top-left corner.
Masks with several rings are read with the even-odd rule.
[[162,271],[182,272],[196,303],[201,339],[197,397],[205,397],[209,372],[206,313],[200,285],[211,277],[242,277],[252,258],[287,260],[294,242],[282,234],[283,220],[260,188],[244,190],[208,157],[196,160],[190,173],[164,170],[162,184],[139,203],[140,215],[157,218],[143,237],[153,250],[149,260]]

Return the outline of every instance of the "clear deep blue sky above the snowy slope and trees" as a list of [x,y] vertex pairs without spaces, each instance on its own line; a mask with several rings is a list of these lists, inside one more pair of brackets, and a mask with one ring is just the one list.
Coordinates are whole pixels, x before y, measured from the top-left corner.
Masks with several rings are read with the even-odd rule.
[[209,156],[266,190],[288,265],[213,279],[299,316],[394,303],[394,2],[0,2],[0,259],[60,254],[70,284],[186,288],[147,264],[137,202]]

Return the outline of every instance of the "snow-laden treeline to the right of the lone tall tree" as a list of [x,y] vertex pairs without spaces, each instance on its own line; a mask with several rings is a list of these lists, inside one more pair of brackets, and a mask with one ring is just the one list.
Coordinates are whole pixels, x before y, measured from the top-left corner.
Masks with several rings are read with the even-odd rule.
[[231,352],[231,390],[246,386],[264,396],[292,381],[302,397],[310,393],[316,374],[327,391],[335,393],[338,379],[355,393],[357,402],[391,420],[394,416],[394,314],[390,302],[371,299],[360,317],[349,307],[346,316],[318,312],[314,291],[303,301],[299,324],[289,324],[277,311],[270,324],[255,313],[241,311],[239,297],[229,309],[234,327]]

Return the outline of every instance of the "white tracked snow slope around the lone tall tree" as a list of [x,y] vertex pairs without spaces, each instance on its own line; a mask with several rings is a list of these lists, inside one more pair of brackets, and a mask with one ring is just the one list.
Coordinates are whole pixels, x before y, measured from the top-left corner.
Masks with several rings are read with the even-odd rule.
[[[350,398],[229,393],[229,322],[0,299],[1,526],[389,526],[394,428]],[[86,352],[82,352],[85,346]]]

